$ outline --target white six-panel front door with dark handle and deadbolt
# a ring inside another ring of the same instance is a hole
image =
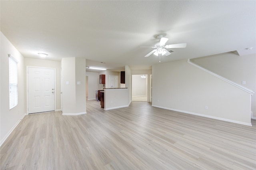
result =
[[[54,111],[54,69],[28,67],[28,113]]]

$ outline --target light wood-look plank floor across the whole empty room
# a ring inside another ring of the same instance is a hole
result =
[[[252,127],[151,107],[27,115],[1,146],[1,170],[256,169]]]

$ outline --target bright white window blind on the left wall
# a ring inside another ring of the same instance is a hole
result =
[[[9,54],[9,101],[10,110],[18,105],[18,62]]]

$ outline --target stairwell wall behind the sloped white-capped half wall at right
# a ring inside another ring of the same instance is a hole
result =
[[[256,92],[256,54],[239,56],[229,52],[191,61]],[[251,105],[252,116],[256,119],[256,94],[252,95]]]

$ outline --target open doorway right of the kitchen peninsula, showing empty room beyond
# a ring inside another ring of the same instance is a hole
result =
[[[132,101],[148,101],[148,75],[132,75]]]

